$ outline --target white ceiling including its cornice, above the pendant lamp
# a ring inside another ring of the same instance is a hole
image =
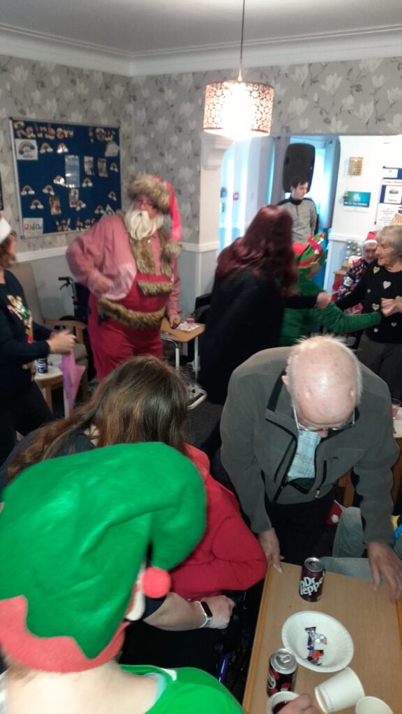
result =
[[[0,52],[155,74],[236,65],[242,0],[1,0]],[[245,65],[402,54],[401,0],[246,0]]]

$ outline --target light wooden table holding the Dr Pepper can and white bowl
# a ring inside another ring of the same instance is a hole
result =
[[[268,570],[243,700],[246,713],[266,713],[268,662],[283,646],[280,633],[285,620],[300,610],[318,610],[333,615],[350,633],[355,652],[349,666],[361,679],[366,695],[383,699],[393,714],[401,714],[401,600],[391,603],[385,585],[374,593],[368,580],[327,573],[320,602],[307,603],[298,594],[299,578],[298,565],[284,563],[282,574]],[[314,700],[315,686],[330,676],[299,665],[295,691],[308,693]],[[354,708],[343,714],[354,714]]]

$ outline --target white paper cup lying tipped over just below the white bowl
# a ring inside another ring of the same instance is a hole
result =
[[[364,697],[364,690],[358,675],[346,667],[315,687],[315,699],[324,714],[332,714],[341,709],[353,707]],[[363,711],[363,710],[362,710]]]

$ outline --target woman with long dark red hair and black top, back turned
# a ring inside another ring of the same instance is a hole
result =
[[[285,307],[325,306],[327,293],[292,296],[297,279],[292,218],[283,208],[264,206],[217,261],[201,345],[200,382],[210,401],[223,404],[232,371],[278,346]]]

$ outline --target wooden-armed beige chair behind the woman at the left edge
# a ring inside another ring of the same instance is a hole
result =
[[[54,318],[47,318],[42,315],[41,305],[39,302],[38,291],[35,283],[34,270],[31,263],[14,263],[10,268],[11,273],[14,273],[16,278],[21,283],[24,288],[24,293],[26,297],[26,302],[28,303],[29,310],[32,313],[34,321],[39,323],[39,325],[46,325],[50,328],[67,328],[72,330],[77,338],[77,343],[74,345],[74,357],[77,364],[84,367],[88,367],[88,355],[87,348],[84,344],[84,330],[87,326],[77,320],[57,320]],[[62,376],[59,378],[54,378],[50,383],[50,387],[57,389],[63,384]],[[81,381],[83,396],[87,395],[88,392],[88,376],[87,369],[84,371]],[[52,403],[52,399],[50,399]]]

